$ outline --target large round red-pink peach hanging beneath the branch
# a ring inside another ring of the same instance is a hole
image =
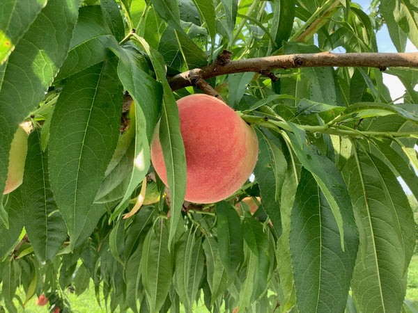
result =
[[[177,105],[186,153],[185,200],[213,203],[229,197],[254,170],[256,132],[231,107],[210,95],[188,95]],[[151,143],[151,161],[167,185],[158,126]]]

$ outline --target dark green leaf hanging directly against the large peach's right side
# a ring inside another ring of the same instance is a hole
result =
[[[258,154],[256,168],[254,168],[254,175],[260,188],[261,204],[272,221],[274,230],[280,235],[281,217],[278,199],[287,163],[279,147],[271,143],[261,131],[256,131],[256,133],[260,153]]]

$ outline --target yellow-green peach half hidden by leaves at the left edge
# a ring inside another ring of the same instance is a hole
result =
[[[4,188],[3,194],[6,195],[6,193],[14,191],[22,184],[24,161],[27,151],[28,134],[22,127],[19,127],[10,147],[6,187]]]

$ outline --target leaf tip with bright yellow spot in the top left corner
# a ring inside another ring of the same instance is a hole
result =
[[[0,64],[6,61],[46,3],[46,0],[5,0],[1,3]]]

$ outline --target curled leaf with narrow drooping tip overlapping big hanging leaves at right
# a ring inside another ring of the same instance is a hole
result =
[[[302,166],[314,175],[320,190],[325,195],[338,225],[341,248],[345,250],[343,224],[351,223],[352,227],[355,227],[354,220],[343,220],[343,216],[350,216],[350,212],[353,211],[346,183],[335,163],[318,153],[313,145],[307,145],[304,131],[292,124],[289,125],[295,130],[295,134],[288,133],[293,150]]]

